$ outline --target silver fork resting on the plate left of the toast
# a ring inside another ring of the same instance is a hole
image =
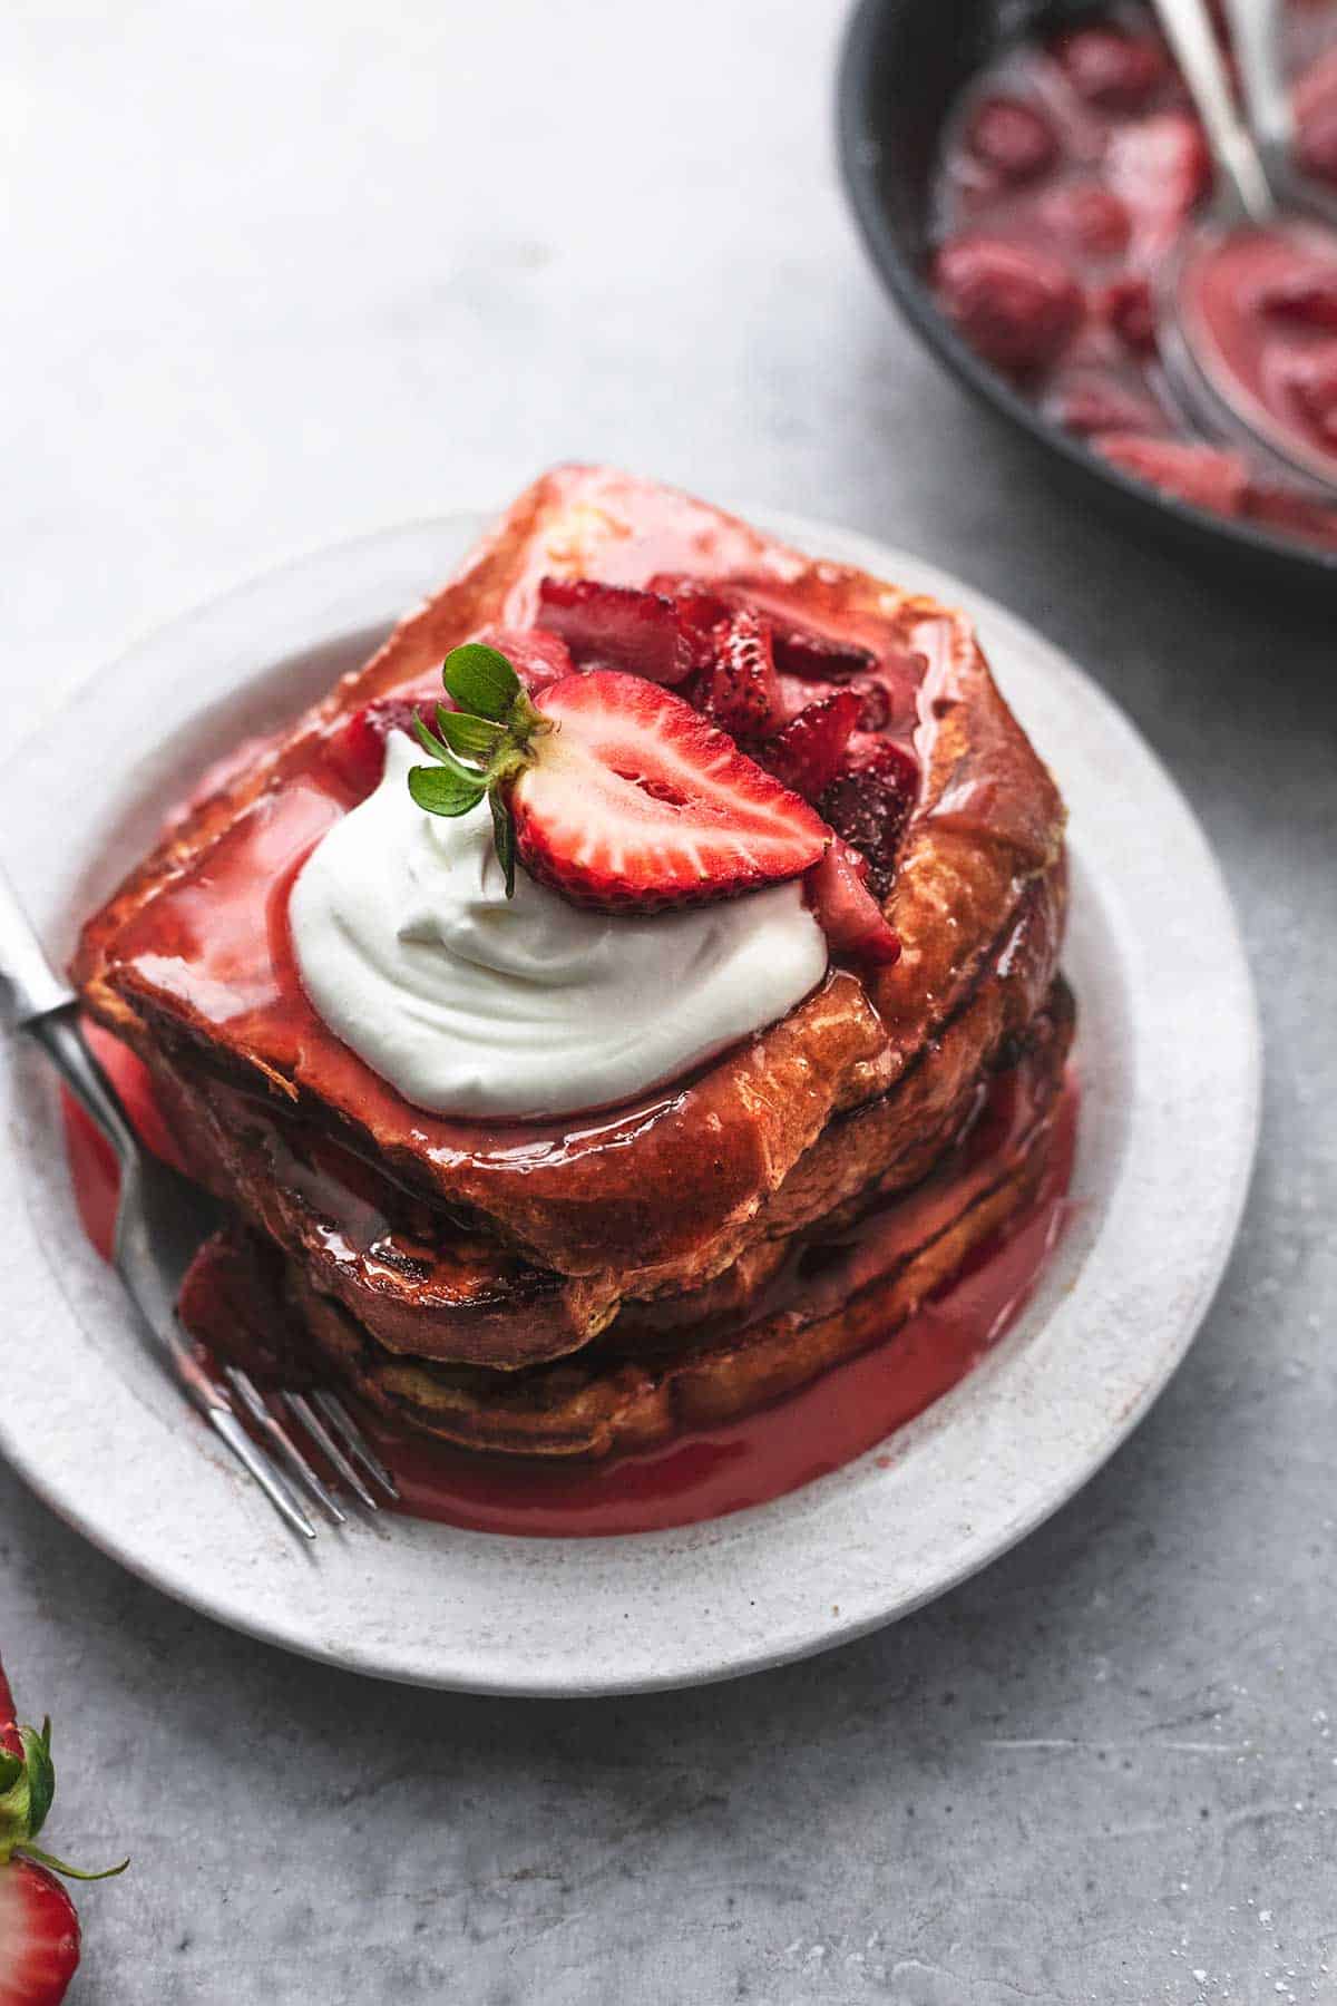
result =
[[[10,1029],[26,1031],[42,1047],[116,1151],[120,1200],[112,1262],[160,1364],[295,1533],[305,1539],[315,1539],[317,1533],[297,1494],[299,1488],[335,1525],[345,1525],[335,1492],[311,1466],[297,1436],[251,1376],[239,1366],[225,1366],[225,1388],[194,1356],[176,1316],[176,1298],[186,1268],[227,1214],[198,1184],[190,1184],[140,1147],[120,1095],[78,1025],[78,999],[52,971],[2,871],[0,1015]],[[369,1511],[381,1509],[377,1490],[387,1498],[399,1496],[395,1478],[337,1394],[281,1388],[279,1398]],[[243,1412],[267,1446],[247,1432],[241,1422]]]

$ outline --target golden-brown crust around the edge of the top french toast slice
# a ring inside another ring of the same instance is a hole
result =
[[[331,718],[417,680],[489,622],[527,622],[545,572],[643,582],[659,570],[736,582],[808,626],[928,654],[924,788],[888,901],[904,945],[896,967],[868,981],[832,971],[788,1019],[702,1079],[597,1119],[593,1143],[537,1127],[497,1137],[425,1117],[355,1061],[315,1091],[301,1039],[263,1043],[245,1017],[241,1029],[206,1021],[188,983],[182,991],[150,957],[136,961],[136,925],[142,939],[154,901],[188,883],[202,859],[212,867],[249,812],[269,812]],[[996,973],[1018,923],[1030,929],[1032,971],[1008,987]],[[94,1013],[140,1051],[170,1051],[176,1063],[227,1073],[333,1123],[393,1176],[463,1208],[539,1266],[591,1282],[631,1274],[647,1292],[692,1286],[736,1260],[760,1230],[754,1222],[784,1208],[796,1172],[794,1192],[804,1188],[834,1117],[880,1107],[876,1119],[902,1119],[908,1135],[924,1107],[950,1105],[1044,995],[1060,931],[1062,808],[962,616],[808,560],[706,504],[607,469],[561,467],[519,497],[361,672],[132,873],[88,923],[74,973]],[[994,989],[1000,1001],[980,1005]],[[958,1025],[968,1031],[950,1035]]]

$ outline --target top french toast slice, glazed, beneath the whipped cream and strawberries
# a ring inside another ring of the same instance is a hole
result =
[[[313,1013],[275,921],[349,806],[331,742],[373,698],[425,688],[459,642],[529,626],[545,576],[665,572],[868,650],[904,694],[922,778],[886,899],[900,961],[832,965],[782,1023],[631,1107],[565,1123],[427,1115]],[[914,1165],[1040,1007],[1062,913],[1058,794],[960,614],[670,489],[559,467],[363,670],[170,828],[86,925],[74,977],[104,1025],[196,1095],[251,1095],[529,1268],[583,1280],[573,1322],[557,1292],[565,1344],[609,1302],[706,1286],[756,1240]]]

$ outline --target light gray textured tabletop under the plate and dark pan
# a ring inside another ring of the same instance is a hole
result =
[[[80,2006],[1337,2000],[1331,606],[1084,514],[910,345],[836,187],[838,28],[8,0],[6,730],[249,570],[555,457],[904,542],[1084,662],[1221,851],[1271,1063],[1239,1252],[1048,1529],[734,1687],[361,1683],[164,1603],[0,1472],[52,1844],[134,1852],[82,1898]]]

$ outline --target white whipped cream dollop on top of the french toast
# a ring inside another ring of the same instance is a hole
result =
[[[425,814],[391,732],[385,776],[303,865],[291,929],[325,1023],[415,1107],[533,1119],[609,1107],[784,1017],[826,971],[802,889],[589,913],[515,873],[483,800]]]

